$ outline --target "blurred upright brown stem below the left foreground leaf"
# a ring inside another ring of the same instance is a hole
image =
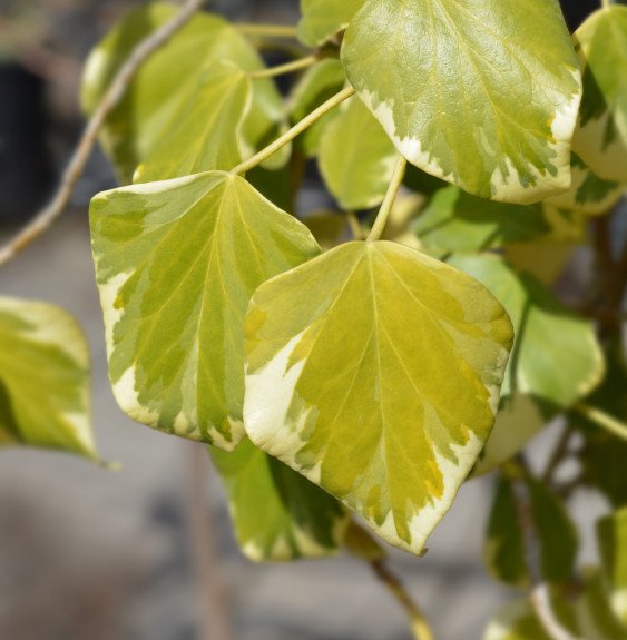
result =
[[[232,640],[225,589],[218,579],[216,536],[212,526],[210,503],[205,491],[207,482],[207,452],[198,443],[189,446],[188,528],[194,569],[197,575],[200,640]]]

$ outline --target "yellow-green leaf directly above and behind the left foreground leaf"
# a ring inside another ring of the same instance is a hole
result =
[[[215,63],[200,78],[180,120],[139,165],[134,181],[151,183],[233,169],[242,161],[239,129],[249,100],[247,75],[232,62]]]

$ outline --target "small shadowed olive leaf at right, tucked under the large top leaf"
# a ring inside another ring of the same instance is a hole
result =
[[[547,205],[590,215],[605,214],[624,196],[626,185],[599,178],[577,154],[572,154],[570,167],[572,173],[570,189],[547,198]]]

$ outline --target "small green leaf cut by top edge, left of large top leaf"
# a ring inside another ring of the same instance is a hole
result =
[[[345,29],[364,0],[301,0],[303,18],[298,38],[310,47],[319,47]]]

